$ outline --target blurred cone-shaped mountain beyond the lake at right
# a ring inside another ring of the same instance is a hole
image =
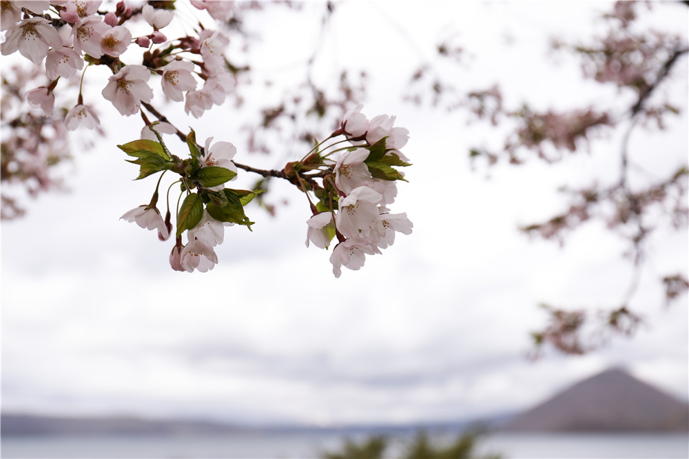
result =
[[[508,431],[688,431],[689,405],[608,369],[504,425]]]

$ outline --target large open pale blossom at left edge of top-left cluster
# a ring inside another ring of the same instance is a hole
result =
[[[19,50],[19,53],[33,63],[40,63],[50,45],[62,43],[50,21],[42,17],[32,17],[19,21],[16,28],[9,30],[5,43],[2,44],[2,54],[8,55]]]

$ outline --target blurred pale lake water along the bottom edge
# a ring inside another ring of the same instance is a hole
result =
[[[342,433],[237,433],[176,437],[4,437],[1,457],[10,458],[319,458],[336,451]],[[354,440],[364,436],[350,437]],[[453,436],[436,436],[437,442]],[[391,438],[389,457],[410,437]],[[494,434],[481,438],[478,453],[503,458],[689,458],[686,434]]]

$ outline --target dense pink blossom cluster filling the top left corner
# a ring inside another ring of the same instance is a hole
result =
[[[215,18],[227,19],[232,8],[231,2],[191,3]],[[146,4],[133,10],[120,1],[110,12],[99,11],[100,7],[101,0],[2,2],[2,54],[19,52],[37,65],[45,61],[49,83],[25,94],[32,107],[40,109],[44,116],[50,115],[59,79],[69,79],[82,69],[85,72],[85,63],[86,68],[110,67],[113,74],[101,95],[123,116],[138,113],[142,104],[152,101],[152,74],[161,77],[167,99],[184,102],[185,112],[196,118],[225,101],[234,87],[234,78],[225,69],[223,51],[229,39],[224,34],[202,26],[198,35],[169,40],[162,30],[174,20],[175,10],[165,9],[174,8],[172,2],[165,2],[165,8]],[[143,19],[143,29],[136,19]],[[132,49],[142,50],[141,63],[127,65],[121,57]],[[195,74],[203,80],[202,88],[198,88]],[[66,127],[93,129],[99,122],[93,105],[83,103],[80,88],[76,104],[65,116]]]

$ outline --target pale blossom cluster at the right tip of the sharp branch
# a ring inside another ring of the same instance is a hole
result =
[[[413,227],[407,214],[392,214],[388,208],[397,196],[397,181],[404,180],[393,166],[410,165],[400,152],[409,131],[395,127],[394,116],[369,120],[361,108],[358,105],[347,112],[340,130],[333,133],[345,136],[351,145],[333,150],[342,151],[336,161],[329,158],[333,152],[321,151],[298,164],[322,163],[331,171],[323,177],[323,189],[315,190],[320,200],[312,205],[313,216],[307,221],[306,245],[327,249],[337,236],[338,244],[330,256],[336,277],[342,274],[342,266],[360,269],[366,255],[380,254],[380,249],[393,244],[395,233],[411,234]]]

